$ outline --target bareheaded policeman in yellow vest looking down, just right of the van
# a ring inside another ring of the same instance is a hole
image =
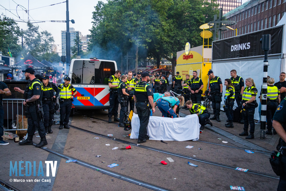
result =
[[[109,109],[108,109],[108,123],[111,123],[111,117],[114,115],[114,121],[118,119],[118,93],[117,88],[119,85],[119,78],[121,76],[120,70],[116,70],[115,74],[109,77]]]

